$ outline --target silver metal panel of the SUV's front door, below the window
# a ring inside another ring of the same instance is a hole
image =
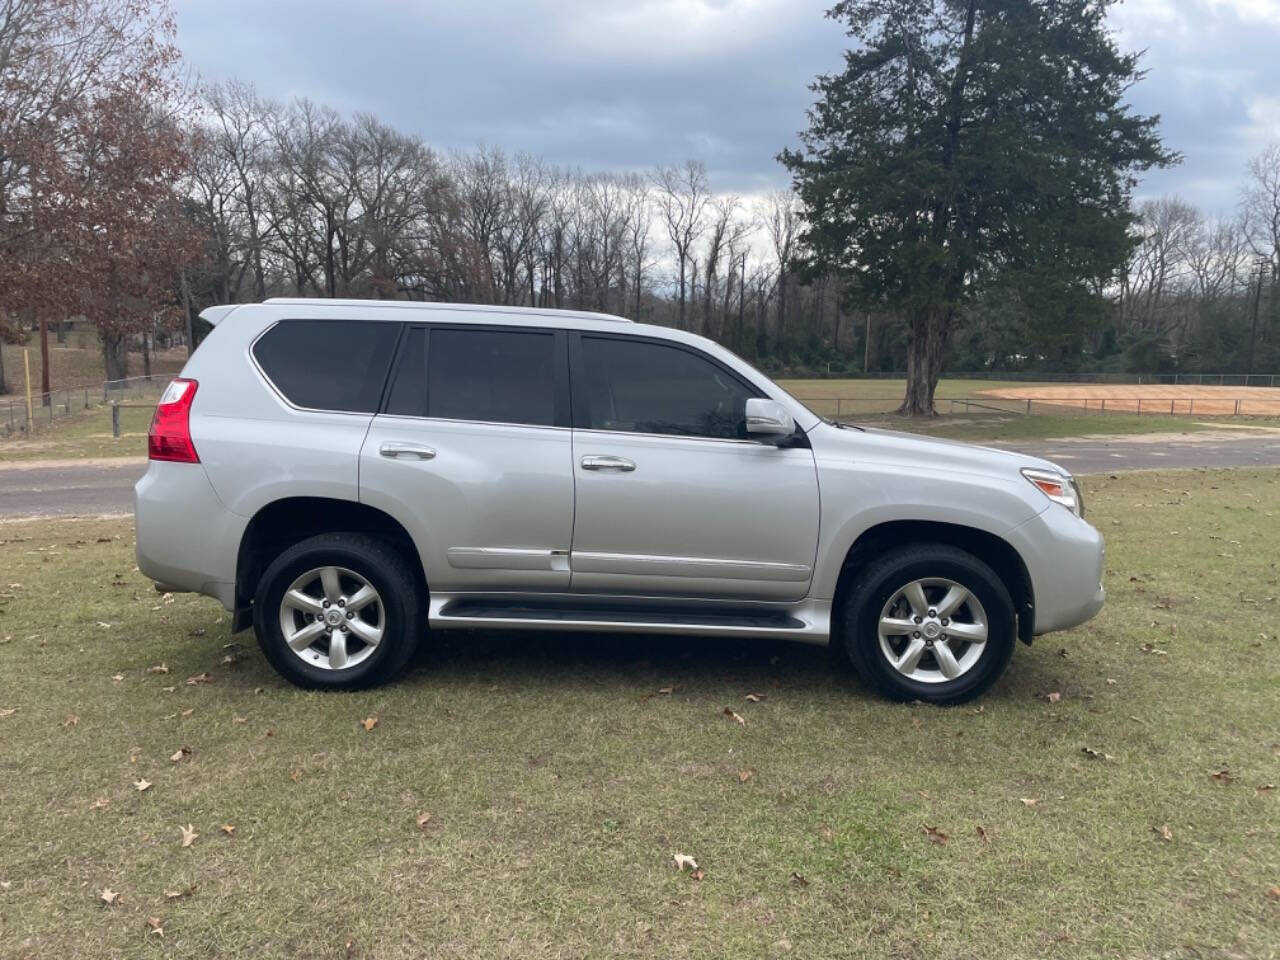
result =
[[[582,468],[622,457],[626,472]],[[696,436],[573,431],[572,589],[799,600],[818,543],[813,452]]]

